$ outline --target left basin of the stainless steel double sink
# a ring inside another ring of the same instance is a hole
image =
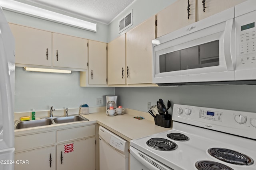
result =
[[[52,119],[39,119],[33,121],[17,121],[15,129],[23,129],[28,127],[37,127],[37,126],[45,126],[52,125]]]

